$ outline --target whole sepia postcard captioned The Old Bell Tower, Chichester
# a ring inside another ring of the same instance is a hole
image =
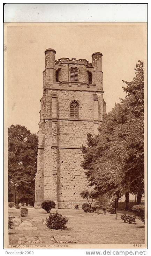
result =
[[[4,69],[4,248],[146,249],[147,23],[5,23]]]

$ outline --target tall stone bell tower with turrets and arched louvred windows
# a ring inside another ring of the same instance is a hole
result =
[[[97,134],[105,113],[102,54],[85,59],[55,60],[45,50],[43,97],[38,132],[35,207],[52,200],[56,208],[81,207],[88,181],[80,163],[87,133]]]

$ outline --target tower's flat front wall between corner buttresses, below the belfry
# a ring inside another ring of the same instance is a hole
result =
[[[79,207],[82,200],[80,193],[87,188],[88,180],[80,164],[83,154],[80,149],[86,145],[87,133],[93,134],[93,94],[94,92],[59,91],[57,92],[57,196],[59,208]],[[70,103],[79,103],[79,118],[70,118]],[[99,95],[99,119],[103,113],[103,98]],[[67,119],[67,120],[66,120]]]

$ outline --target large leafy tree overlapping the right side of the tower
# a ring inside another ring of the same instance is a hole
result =
[[[144,193],[142,61],[138,61],[135,70],[133,81],[123,81],[125,99],[104,115],[99,134],[87,134],[88,147],[82,146],[85,155],[81,163],[90,186],[95,185],[100,195],[109,198],[125,195],[127,210],[129,193],[137,194],[139,203]]]

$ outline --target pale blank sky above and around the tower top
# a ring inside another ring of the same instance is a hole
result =
[[[138,60],[146,60],[146,23],[18,23],[7,25],[8,126],[21,124],[38,132],[39,100],[47,48],[56,60],[86,59],[103,54],[103,89],[106,112],[124,97],[122,80],[135,76]]]

